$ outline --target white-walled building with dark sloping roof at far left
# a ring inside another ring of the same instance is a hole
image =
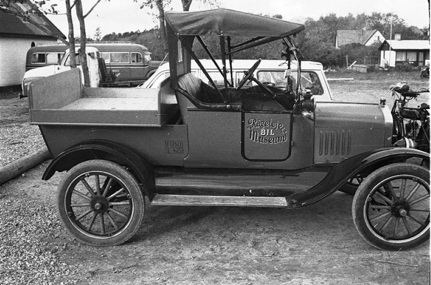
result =
[[[12,13],[5,12],[5,8],[0,7],[0,87],[21,83],[25,73],[25,55],[29,48],[55,44],[57,38],[54,35],[65,39],[41,13],[28,13],[28,19],[18,16],[34,9],[29,0],[10,3],[7,9]]]

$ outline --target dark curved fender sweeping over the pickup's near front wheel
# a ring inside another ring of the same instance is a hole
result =
[[[356,174],[369,174],[384,165],[408,158],[423,159],[429,165],[429,154],[412,148],[383,148],[364,152],[335,164],[326,176],[312,188],[286,197],[288,208],[297,208],[317,202],[336,191]]]

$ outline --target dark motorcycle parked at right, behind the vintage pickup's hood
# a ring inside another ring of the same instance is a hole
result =
[[[416,148],[429,153],[429,105],[422,103],[415,108],[407,107],[410,100],[429,90],[412,91],[403,82],[391,85],[390,90],[394,97],[391,109],[393,146]]]

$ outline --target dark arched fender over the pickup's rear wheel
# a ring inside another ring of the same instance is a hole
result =
[[[42,179],[48,180],[55,171],[67,171],[92,159],[109,160],[127,167],[138,182],[143,184],[145,195],[152,198],[155,189],[152,166],[126,147],[110,141],[86,141],[61,152],[48,165]]]

